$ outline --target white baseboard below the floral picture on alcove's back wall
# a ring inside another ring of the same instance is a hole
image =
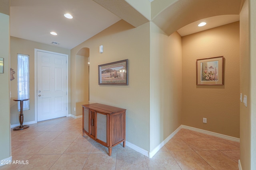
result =
[[[222,135],[222,134],[220,134],[220,133],[215,133],[215,132],[211,132],[211,131],[206,131],[206,130],[202,130],[202,129],[198,129],[198,128],[190,127],[190,126],[186,126],[186,125],[182,125],[182,128],[184,128],[184,129],[189,129],[189,130],[196,131],[196,132],[200,132],[200,133],[204,133],[204,134],[206,134],[206,135],[211,135],[211,136],[215,136],[215,137],[220,137],[220,138],[222,138],[222,139],[227,139],[227,140],[230,140],[230,141],[240,142],[240,139],[239,139],[239,138],[231,137],[231,136],[228,136],[228,135]]]

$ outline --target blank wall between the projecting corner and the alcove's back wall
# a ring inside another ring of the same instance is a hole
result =
[[[181,125],[182,43],[150,24],[150,152]]]

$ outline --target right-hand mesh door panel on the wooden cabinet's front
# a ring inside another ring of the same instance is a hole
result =
[[[107,143],[107,115],[97,113],[97,139]]]

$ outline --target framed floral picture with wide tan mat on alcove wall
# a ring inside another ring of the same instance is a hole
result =
[[[224,58],[196,60],[196,85],[224,85]]]

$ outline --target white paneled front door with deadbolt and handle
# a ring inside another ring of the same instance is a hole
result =
[[[67,115],[66,55],[36,51],[37,121]]]

